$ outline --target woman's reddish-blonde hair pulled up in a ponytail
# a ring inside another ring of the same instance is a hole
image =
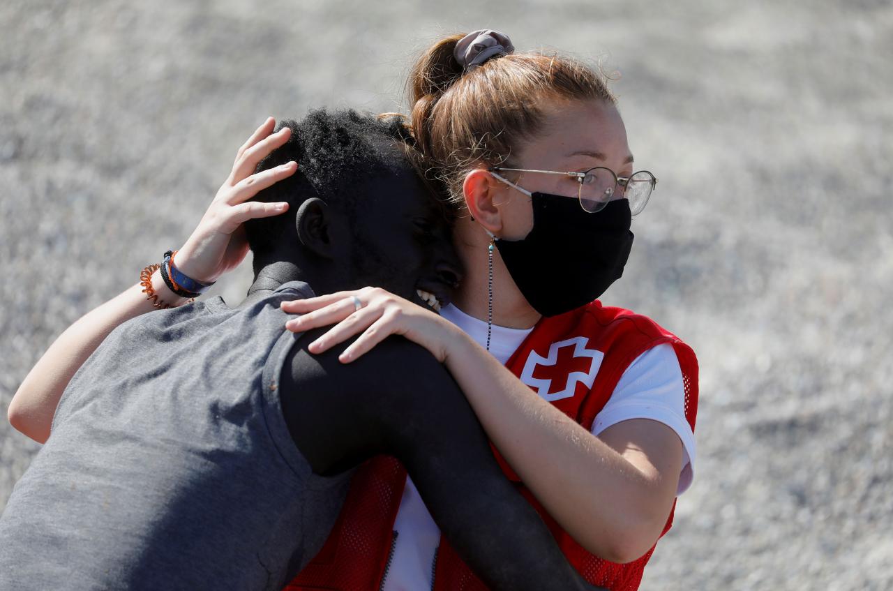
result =
[[[462,202],[468,171],[505,162],[520,142],[538,135],[549,102],[616,102],[601,73],[563,55],[507,54],[463,71],[453,55],[463,37],[438,40],[408,81],[413,134],[455,202]]]

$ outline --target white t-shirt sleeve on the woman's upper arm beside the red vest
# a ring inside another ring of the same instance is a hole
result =
[[[672,345],[656,345],[630,363],[596,415],[592,434],[630,419],[662,422],[679,436],[683,454],[676,495],[684,493],[694,478],[695,434],[685,418],[682,370]]]

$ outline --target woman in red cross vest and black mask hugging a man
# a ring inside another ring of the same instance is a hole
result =
[[[515,54],[507,37],[481,30],[438,41],[411,86],[414,134],[460,212],[455,245],[466,276],[455,305],[438,316],[369,288],[285,304],[306,312],[288,328],[340,322],[315,351],[362,332],[344,362],[392,333],[428,348],[463,387],[506,473],[523,483],[572,564],[594,584],[635,589],[690,482],[697,362],[653,321],[589,302],[622,273],[630,214],[656,181],[633,174],[613,96],[572,60]],[[243,151],[273,146],[276,137],[261,139],[270,129]],[[238,236],[229,237],[252,213],[218,231],[213,212],[229,219],[248,198],[234,186],[250,162],[237,160],[240,173],[234,168],[178,254],[187,275],[214,279],[244,254]],[[76,324],[59,338],[22,385],[44,393],[30,396],[43,403],[31,408],[52,417],[64,383],[104,334],[146,310],[138,295],[131,289],[105,304],[109,311],[93,319],[104,329],[69,335]],[[436,295],[421,296],[438,308]],[[66,350],[78,354],[59,370]],[[29,384],[40,366],[55,377]],[[372,462],[355,478],[329,542],[289,587],[480,588],[438,539],[405,473],[386,459]]]

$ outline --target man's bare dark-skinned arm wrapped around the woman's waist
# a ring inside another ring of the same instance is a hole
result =
[[[286,365],[291,375],[281,379],[288,429],[316,473],[393,455],[488,587],[597,588],[572,568],[537,512],[505,479],[462,391],[427,351],[389,337],[345,366],[338,362],[344,346],[306,352],[316,336],[298,341]]]

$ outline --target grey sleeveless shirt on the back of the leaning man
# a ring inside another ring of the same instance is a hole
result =
[[[280,301],[220,297],[114,329],[65,390],[0,517],[0,589],[280,589],[349,472],[313,475],[283,419]],[[290,567],[290,569],[289,569]]]

